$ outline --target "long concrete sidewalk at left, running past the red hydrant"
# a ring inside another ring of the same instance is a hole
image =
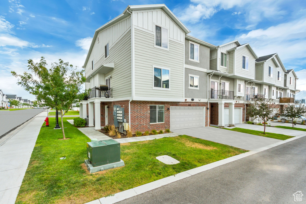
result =
[[[45,115],[39,113],[0,139],[1,203],[15,203]]]

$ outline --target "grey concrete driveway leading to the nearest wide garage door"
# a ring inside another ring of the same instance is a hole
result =
[[[189,135],[216,143],[239,147],[244,150],[256,150],[258,148],[282,141],[279,139],[250,135],[214,127],[185,128],[171,131],[179,133],[180,135]]]

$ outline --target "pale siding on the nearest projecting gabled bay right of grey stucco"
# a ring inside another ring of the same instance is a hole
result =
[[[255,79],[255,57],[246,46],[235,50],[235,75]],[[249,58],[248,70],[242,69],[242,56]]]

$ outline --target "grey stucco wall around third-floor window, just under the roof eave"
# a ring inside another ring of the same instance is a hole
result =
[[[192,43],[191,40],[190,42]],[[199,47],[199,51],[200,51],[199,61],[200,62],[189,60],[189,55],[190,55],[189,50],[190,50],[189,40],[185,39],[185,65],[191,65],[191,66],[200,67],[203,69],[209,69],[209,52],[210,52],[209,47],[200,44],[200,47]]]

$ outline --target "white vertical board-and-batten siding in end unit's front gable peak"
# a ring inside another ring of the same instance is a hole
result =
[[[168,28],[169,38],[184,42],[185,33],[162,9],[133,11],[133,25],[155,32],[154,23]]]

